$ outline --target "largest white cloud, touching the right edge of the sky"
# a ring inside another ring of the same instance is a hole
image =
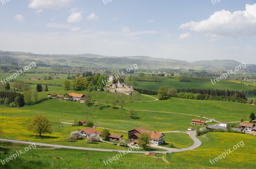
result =
[[[209,19],[188,22],[180,29],[190,29],[210,37],[232,37],[256,35],[256,4],[246,4],[245,11],[215,12]]]

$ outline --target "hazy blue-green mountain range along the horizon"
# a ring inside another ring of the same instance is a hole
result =
[[[240,63],[235,60],[204,60],[188,62],[175,59],[167,58],[152,58],[149,56],[123,56],[113,57],[95,54],[54,54],[54,55],[42,55],[34,54],[31,52],[11,52],[0,50],[0,58],[8,60],[12,59],[14,62],[22,63],[25,60],[40,60],[40,63],[47,64],[59,64],[59,65],[70,65],[70,66],[84,66],[89,68],[115,68],[121,69],[129,67],[133,64],[137,64],[139,69],[161,69],[161,70],[183,70],[183,69],[195,69],[195,70],[212,70],[221,69],[226,70],[228,68],[234,69]],[[9,59],[7,59],[9,58]],[[58,63],[56,63],[58,62]],[[247,65],[247,68],[256,70],[256,65]]]

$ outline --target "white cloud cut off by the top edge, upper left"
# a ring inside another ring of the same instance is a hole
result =
[[[68,6],[73,0],[30,0],[29,8],[33,9],[60,9]]]

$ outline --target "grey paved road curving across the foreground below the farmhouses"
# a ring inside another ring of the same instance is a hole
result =
[[[177,131],[180,133],[179,131]],[[92,151],[108,151],[108,152],[125,152],[125,153],[147,153],[147,152],[155,152],[155,153],[171,153],[171,152],[181,152],[181,151],[188,151],[193,150],[201,145],[200,140],[196,138],[196,131],[189,132],[189,136],[194,140],[194,144],[191,147],[188,147],[186,149],[175,149],[175,150],[169,150],[169,151],[124,151],[124,150],[108,150],[108,149],[94,149],[94,148],[85,148],[85,147],[73,147],[73,146],[64,146],[64,145],[55,145],[55,144],[45,144],[45,143],[38,143],[38,142],[24,142],[24,141],[18,141],[18,140],[7,140],[7,139],[0,139],[0,141],[3,142],[14,142],[14,143],[21,143],[21,144],[33,144],[38,146],[47,146],[47,147],[56,147],[56,148],[66,148],[66,149],[77,149],[77,150],[92,150]]]

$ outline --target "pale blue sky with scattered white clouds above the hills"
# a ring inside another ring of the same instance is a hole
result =
[[[256,0],[0,0],[0,17],[3,51],[256,64]]]

